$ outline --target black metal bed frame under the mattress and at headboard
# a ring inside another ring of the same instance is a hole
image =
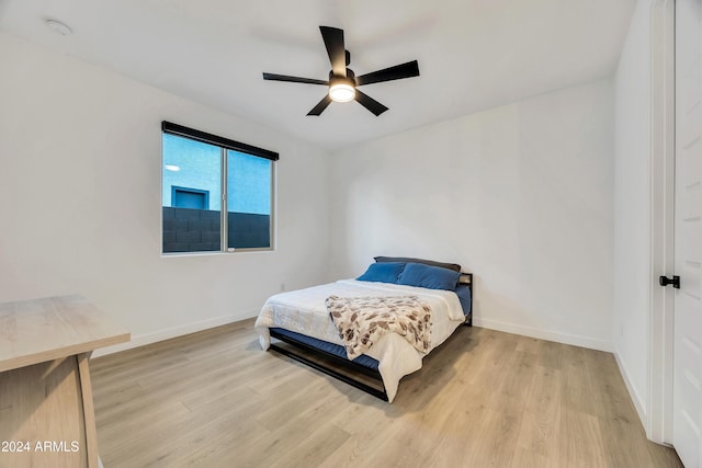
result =
[[[467,279],[463,281],[463,284],[466,284],[471,290],[471,311],[465,317],[465,321],[463,322],[466,327],[473,327],[473,273],[462,273],[462,276]],[[385,392],[385,387],[383,386],[383,378],[381,377],[381,373],[376,369],[366,367],[362,364],[358,364],[353,361],[349,361],[343,357],[339,357],[336,354],[330,352],[319,350],[310,344],[304,343],[302,341],[295,340],[294,338],[287,334],[281,334],[275,329],[271,329],[271,338],[280,340],[284,343],[290,344],[291,346],[281,346],[274,342],[271,342],[271,350],[276,351],[278,353],[284,354],[299,363],[308,365],[321,373],[325,373],[331,377],[335,377],[346,384],[349,384],[360,390],[365,391],[381,400],[387,401],[387,393]],[[298,352],[299,351],[299,352]],[[310,358],[305,354],[312,354],[319,358]],[[331,365],[325,364],[325,362],[330,363]],[[349,374],[339,372],[338,368],[342,368]],[[350,375],[351,374],[351,375]],[[369,385],[361,379],[353,378],[352,374],[360,374],[366,377],[371,377],[373,381],[377,383],[377,386]],[[380,388],[380,389],[378,389]],[[382,389],[382,390],[381,390]]]

